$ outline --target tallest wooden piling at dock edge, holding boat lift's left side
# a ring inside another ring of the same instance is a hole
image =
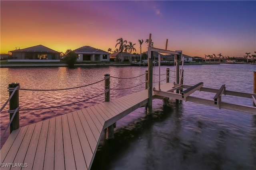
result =
[[[151,51],[151,33],[148,39],[148,108],[147,114],[152,113],[152,98],[153,98],[153,57],[154,53]]]

